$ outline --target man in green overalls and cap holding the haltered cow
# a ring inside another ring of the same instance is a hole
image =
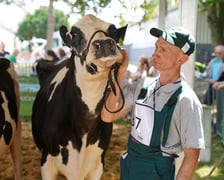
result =
[[[151,65],[160,71],[159,77],[141,79],[130,88],[121,107],[120,95],[110,93],[101,112],[105,122],[112,122],[132,112],[132,127],[128,151],[121,158],[121,180],[191,180],[204,148],[202,106],[194,91],[181,77],[181,66],[194,52],[195,40],[184,28],[167,31],[150,30],[158,37]],[[122,82],[127,66],[118,71]],[[119,85],[115,82],[117,94]],[[175,175],[174,159],[184,152],[184,159]]]

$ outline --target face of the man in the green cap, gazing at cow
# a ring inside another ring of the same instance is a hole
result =
[[[183,56],[180,48],[169,44],[162,38],[157,40],[155,46],[156,48],[151,60],[152,66],[160,72],[180,68],[178,61]]]

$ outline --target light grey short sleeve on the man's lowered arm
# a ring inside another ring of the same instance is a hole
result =
[[[202,105],[193,90],[185,90],[179,97],[179,132],[183,148],[205,148],[202,127]]]

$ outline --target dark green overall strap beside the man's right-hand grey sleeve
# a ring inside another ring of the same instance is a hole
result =
[[[165,104],[164,108],[166,108],[165,115],[164,115],[164,127],[163,127],[163,141],[162,145],[165,146],[167,138],[168,138],[168,133],[169,133],[169,128],[170,128],[170,122],[172,119],[172,114],[174,111],[174,108],[177,103],[177,97],[179,94],[182,92],[182,86],[180,86],[170,97],[170,99],[167,101]]]

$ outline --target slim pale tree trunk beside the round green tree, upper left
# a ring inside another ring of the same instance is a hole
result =
[[[49,0],[46,49],[52,49],[53,46],[54,23],[54,0]]]

